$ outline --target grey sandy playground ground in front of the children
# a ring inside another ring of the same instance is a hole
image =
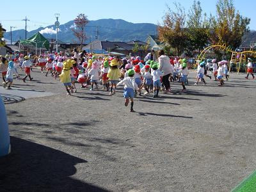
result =
[[[172,83],[170,94],[136,98],[136,113],[122,87],[109,96],[77,84],[70,97],[38,69],[32,76],[14,80],[6,104],[1,191],[230,191],[255,170],[256,80],[244,74],[194,86],[191,71],[188,93]]]

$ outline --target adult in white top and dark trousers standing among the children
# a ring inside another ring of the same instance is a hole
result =
[[[171,92],[169,77],[170,77],[170,74],[172,73],[172,68],[171,68],[170,58],[164,54],[163,50],[160,50],[158,52],[158,56],[159,56],[158,58],[159,70],[163,72],[163,84],[165,87],[164,93],[168,93],[168,92]]]

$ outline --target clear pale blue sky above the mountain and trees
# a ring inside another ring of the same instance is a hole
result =
[[[10,26],[15,29],[24,29],[25,22],[22,21],[26,16],[28,21],[28,31],[54,24],[54,13],[60,13],[60,24],[64,24],[76,18],[79,13],[88,15],[89,20],[97,19],[124,19],[129,22],[140,23],[150,22],[157,24],[161,22],[166,4],[173,6],[173,2],[180,3],[188,11],[193,0],[98,0],[98,1],[54,1],[44,0],[38,4],[35,1],[15,1],[13,5],[10,1],[2,1],[0,12],[0,22],[3,27],[10,31]],[[209,15],[216,13],[217,0],[201,1],[204,12]],[[234,0],[236,9],[246,17],[251,18],[250,29],[256,30],[255,7],[256,1],[253,0]],[[10,8],[12,6],[12,8]],[[12,11],[10,11],[12,10]],[[14,30],[15,30],[14,29]]]

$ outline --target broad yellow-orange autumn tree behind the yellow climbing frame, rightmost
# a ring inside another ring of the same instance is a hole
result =
[[[250,19],[236,11],[233,0],[219,0],[216,8],[216,17],[211,16],[211,41],[236,49],[244,33],[249,31]]]

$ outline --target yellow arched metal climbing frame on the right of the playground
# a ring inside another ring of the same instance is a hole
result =
[[[226,44],[222,44],[222,45],[218,44],[218,45],[211,45],[209,47],[206,47],[204,51],[200,53],[197,60],[200,60],[200,61],[205,60],[205,54],[211,51],[212,49],[231,52],[232,53],[231,59],[228,62],[228,65],[229,65],[228,72],[230,72],[232,65],[236,65],[237,74],[239,74],[241,66],[243,66],[244,63],[246,63],[246,56],[256,57],[256,51],[253,51],[252,48],[249,51],[237,52],[232,50],[231,47],[227,46]],[[237,67],[237,64],[238,64],[238,67]],[[245,67],[245,70],[246,70],[246,67]]]

